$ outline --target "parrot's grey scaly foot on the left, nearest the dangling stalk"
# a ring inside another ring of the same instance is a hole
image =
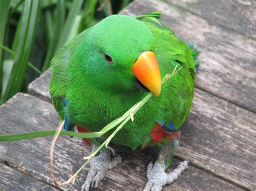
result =
[[[110,151],[100,151],[99,155],[93,157],[90,161],[90,169],[82,186],[82,191],[96,188],[104,178],[105,173],[114,166],[117,166],[120,162],[122,162],[122,158],[119,155],[111,159]]]

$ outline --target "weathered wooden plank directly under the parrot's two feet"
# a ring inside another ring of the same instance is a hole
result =
[[[58,116],[53,105],[37,97],[17,94],[0,108],[0,131],[6,135],[28,131],[55,129]],[[49,150],[51,138],[1,142],[4,153],[0,161],[8,161],[11,167],[17,168],[23,161],[23,171],[37,179],[52,184],[49,173]],[[56,145],[55,164],[59,180],[67,179],[75,169],[83,164],[82,157],[89,152],[80,139],[60,137]],[[15,156],[15,157],[14,157]],[[100,189],[140,190],[146,183],[146,166],[151,157],[145,152],[123,153],[123,162],[107,172],[100,183]],[[180,160],[174,159],[175,167]],[[169,172],[171,169],[169,169]],[[66,188],[79,189],[86,177],[87,168],[77,177],[75,185]],[[59,177],[60,176],[60,177]],[[204,183],[202,183],[204,182]],[[205,189],[240,189],[221,180],[203,169],[190,166],[180,178],[166,190],[205,190]]]

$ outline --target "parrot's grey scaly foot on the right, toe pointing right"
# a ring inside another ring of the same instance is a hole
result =
[[[154,164],[150,162],[147,166],[147,183],[144,191],[158,191],[166,184],[172,183],[178,176],[188,167],[188,161],[180,162],[179,166],[171,173],[165,173],[165,164],[156,161]]]

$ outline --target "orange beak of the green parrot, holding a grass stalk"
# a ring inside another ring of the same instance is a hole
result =
[[[161,91],[161,75],[156,55],[152,51],[143,52],[133,64],[133,74],[155,96]]]

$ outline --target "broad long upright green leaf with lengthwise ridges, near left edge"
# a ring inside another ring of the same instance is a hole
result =
[[[31,47],[35,37],[38,12],[38,0],[25,1],[14,66],[12,67],[11,76],[6,87],[2,103],[21,90],[26,67],[28,66]]]

